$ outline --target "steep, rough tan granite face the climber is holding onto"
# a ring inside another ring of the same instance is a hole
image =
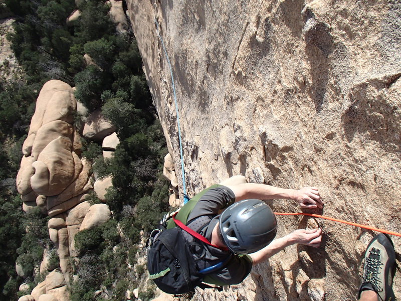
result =
[[[316,186],[323,215],[400,232],[401,6],[395,1],[128,0],[182,200],[232,175]],[[289,201],[273,209],[299,211]],[[278,217],[278,236],[307,218]],[[355,299],[374,235],[319,220],[317,249],[291,246],[245,282],[196,300]],[[392,237],[399,258],[401,241]],[[395,295],[401,295],[399,272]]]

